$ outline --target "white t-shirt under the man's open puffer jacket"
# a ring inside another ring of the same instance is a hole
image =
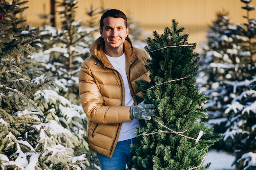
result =
[[[106,54],[105,54],[106,55]],[[125,91],[125,106],[134,106],[134,102],[132,99],[132,95],[130,93],[130,88],[128,84],[127,74],[126,74],[126,57],[125,53],[120,57],[108,57],[108,60],[112,64],[112,66],[121,74],[121,77],[124,82],[124,91]],[[130,122],[122,123],[122,127],[120,130],[120,135],[118,141],[124,141],[127,139],[132,139],[136,137],[134,130],[139,127],[139,121],[137,119],[133,119]]]

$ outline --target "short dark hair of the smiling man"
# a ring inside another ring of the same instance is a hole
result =
[[[118,9],[110,9],[110,10],[106,11],[105,13],[103,13],[103,15],[101,16],[101,22],[100,22],[101,29],[103,29],[103,26],[104,26],[103,20],[104,20],[104,18],[107,18],[107,17],[123,18],[126,28],[128,27],[126,15]]]

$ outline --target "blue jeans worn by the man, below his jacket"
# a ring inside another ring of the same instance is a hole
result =
[[[111,158],[97,153],[101,170],[124,170],[130,160],[130,144],[135,144],[135,138],[117,142],[117,146]]]

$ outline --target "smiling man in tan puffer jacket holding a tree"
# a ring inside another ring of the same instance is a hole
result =
[[[148,81],[145,51],[133,47],[126,15],[116,9],[101,16],[100,34],[91,55],[81,65],[79,96],[88,121],[89,144],[97,151],[102,170],[124,170],[138,119],[153,116],[153,104],[138,104],[135,84]],[[138,104],[138,105],[137,105]]]

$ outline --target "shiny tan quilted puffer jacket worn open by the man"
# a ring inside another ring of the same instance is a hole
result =
[[[112,157],[122,122],[129,122],[130,106],[124,106],[124,83],[121,75],[103,52],[104,40],[98,38],[91,46],[91,55],[81,65],[79,96],[88,121],[90,147],[107,157]],[[129,37],[124,42],[126,71],[132,98],[142,97],[135,85],[138,79],[148,81],[145,68],[149,59],[143,50],[134,48]]]

